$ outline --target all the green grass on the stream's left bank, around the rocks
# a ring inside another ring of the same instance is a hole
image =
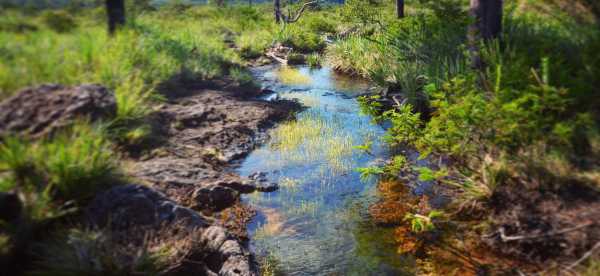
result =
[[[117,102],[115,118],[99,125],[77,121],[37,141],[2,138],[0,190],[18,193],[25,209],[20,222],[1,222],[1,250],[36,254],[35,274],[156,274],[187,258],[178,254],[189,243],[159,234],[137,244],[120,240],[123,233],[81,227],[43,238],[32,234],[49,232],[40,227],[72,217],[94,194],[123,180],[117,150],[151,138],[149,115],[178,82],[226,77],[252,84],[247,60],[275,42],[299,52],[322,50],[321,35],[333,32],[335,22],[311,12],[306,22],[276,25],[268,5],[169,4],[130,11],[127,25],[112,37],[103,7],[0,11],[0,100],[43,83],[99,83],[114,91]],[[299,80],[288,73],[291,81]],[[30,230],[19,234],[9,228]]]

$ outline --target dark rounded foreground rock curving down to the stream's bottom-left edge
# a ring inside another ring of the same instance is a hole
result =
[[[169,274],[178,275],[257,275],[257,266],[250,252],[227,229],[211,225],[211,218],[182,207],[164,194],[141,185],[124,185],[99,194],[86,210],[88,222],[100,229],[113,232],[137,233],[144,239],[146,231],[160,232],[173,225],[182,227],[187,236],[180,239],[199,241],[201,247],[189,248],[192,252]],[[187,231],[186,231],[187,229]],[[165,230],[167,231],[167,230]],[[183,250],[183,249],[181,249]],[[132,251],[132,254],[136,254]]]

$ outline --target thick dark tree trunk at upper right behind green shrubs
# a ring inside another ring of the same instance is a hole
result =
[[[503,0],[471,0],[470,15],[475,19],[469,26],[469,51],[471,66],[483,69],[478,43],[498,38],[502,32]]]

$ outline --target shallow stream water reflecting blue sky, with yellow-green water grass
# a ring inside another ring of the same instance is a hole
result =
[[[270,132],[238,172],[264,172],[280,189],[245,196],[258,210],[249,226],[251,247],[286,275],[411,275],[413,260],[396,254],[390,229],[367,214],[375,181],[361,181],[359,167],[381,164],[384,130],[359,114],[359,80],[330,69],[258,69],[269,96],[296,99],[307,108]],[[355,146],[371,143],[370,153]]]

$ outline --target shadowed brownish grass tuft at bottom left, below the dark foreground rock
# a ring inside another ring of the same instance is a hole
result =
[[[168,273],[201,251],[194,239],[200,230],[181,231],[178,225],[161,230],[131,230],[73,227],[36,245],[37,267],[31,275],[113,275]],[[136,232],[137,231],[137,232]]]

